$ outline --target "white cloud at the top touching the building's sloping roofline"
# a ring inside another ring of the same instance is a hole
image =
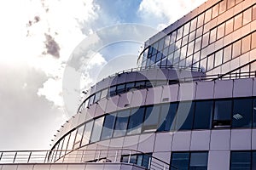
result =
[[[143,0],[138,14],[146,23],[157,23],[158,30],[169,26],[184,14],[204,3],[206,0]],[[152,19],[156,20],[152,20]],[[160,23],[162,20],[164,23]],[[167,23],[166,23],[167,22]]]

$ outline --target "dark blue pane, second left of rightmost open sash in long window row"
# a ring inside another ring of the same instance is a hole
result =
[[[192,129],[195,102],[180,102],[177,107],[176,130]]]

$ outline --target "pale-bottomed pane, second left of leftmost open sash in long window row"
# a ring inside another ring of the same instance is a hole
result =
[[[114,125],[113,137],[125,136],[130,110],[119,111]]]

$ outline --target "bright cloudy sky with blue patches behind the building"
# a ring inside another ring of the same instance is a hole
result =
[[[80,89],[73,89],[68,92],[73,94],[69,99],[73,107],[67,108],[63,103],[62,84],[67,61],[80,42],[88,40],[92,44],[100,44],[102,39],[97,36],[99,30],[122,23],[135,23],[160,31],[203,2],[204,0],[1,2],[0,150],[49,149],[50,139],[53,139],[57,129],[71,116],[70,112],[74,113],[80,102]],[[123,35],[125,36],[125,31]],[[88,39],[90,37],[93,38]],[[104,71],[104,65],[105,70],[110,64],[112,67],[119,65],[124,55],[131,54],[131,63],[126,66],[135,67],[138,50],[147,38],[140,42],[113,43],[97,51],[84,51],[84,56],[95,55],[90,64],[85,65],[88,66],[87,70],[82,70],[82,77],[72,70],[82,80],[79,87],[90,87],[97,77],[90,72]],[[116,71],[115,68],[112,71]]]

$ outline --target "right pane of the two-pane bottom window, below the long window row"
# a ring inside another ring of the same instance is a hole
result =
[[[208,153],[192,152],[190,156],[190,170],[207,170]]]

